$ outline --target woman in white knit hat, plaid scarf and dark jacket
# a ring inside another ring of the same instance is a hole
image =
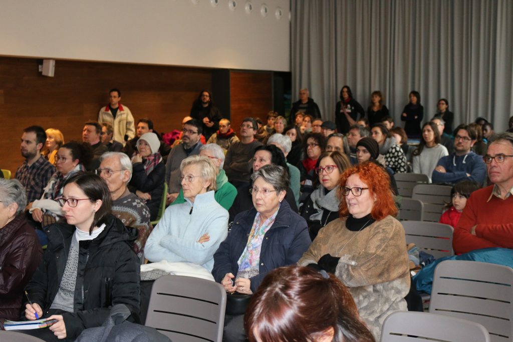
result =
[[[159,146],[159,138],[155,133],[144,133],[137,140],[139,152],[131,159],[133,173],[129,183],[130,190],[148,206],[152,221],[159,214],[166,174]]]

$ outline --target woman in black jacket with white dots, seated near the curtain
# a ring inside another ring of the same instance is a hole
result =
[[[371,129],[372,138],[380,146],[380,154],[385,157],[386,166],[392,169],[394,173],[408,172],[406,156],[396,139],[390,136],[390,132],[383,124],[376,124]]]

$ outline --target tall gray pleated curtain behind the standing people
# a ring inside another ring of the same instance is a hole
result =
[[[447,98],[453,127],[483,116],[496,131],[513,115],[513,1],[291,0],[292,100],[308,88],[334,120],[348,85],[364,109],[381,90],[400,122],[417,90],[424,121]]]

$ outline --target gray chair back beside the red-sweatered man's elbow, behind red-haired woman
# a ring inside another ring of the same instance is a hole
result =
[[[406,243],[415,245],[426,253],[438,258],[454,255],[452,234],[449,225],[426,221],[402,221],[406,234]]]

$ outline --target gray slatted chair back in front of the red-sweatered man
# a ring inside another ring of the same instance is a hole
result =
[[[445,260],[435,269],[429,312],[482,324],[492,342],[513,340],[513,269]]]

